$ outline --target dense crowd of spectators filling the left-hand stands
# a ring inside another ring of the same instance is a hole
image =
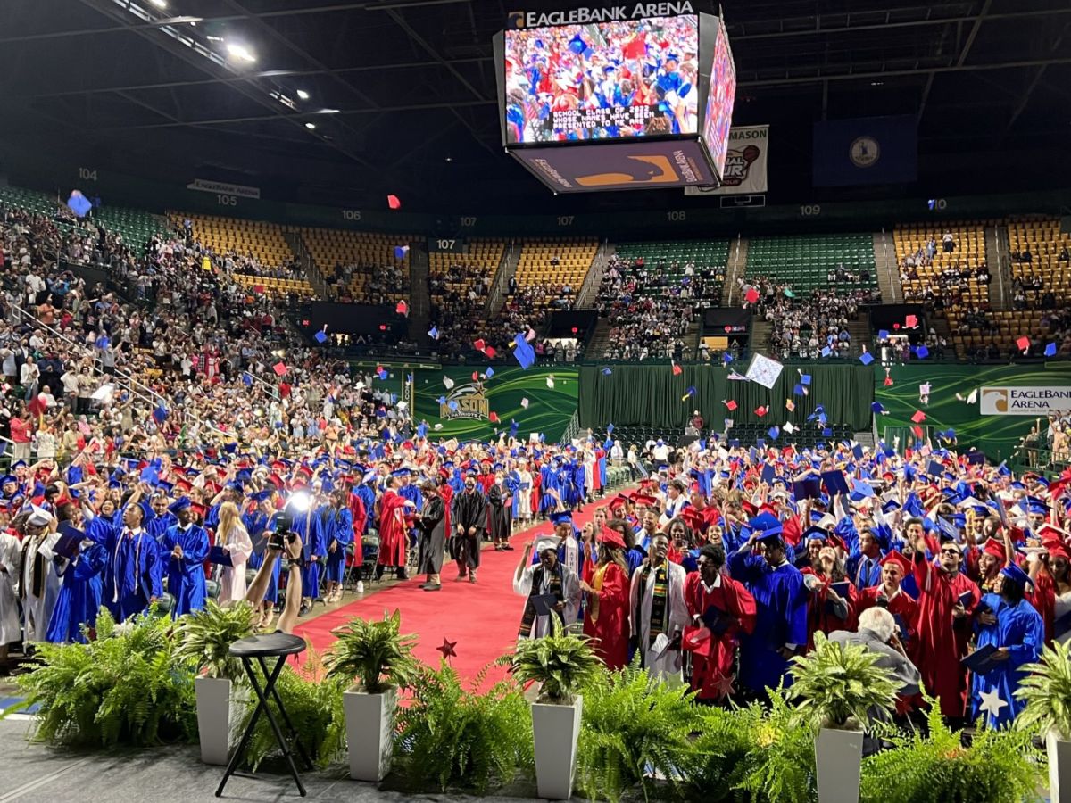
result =
[[[235,284],[195,231],[135,249],[70,223],[62,209],[0,210],[0,435],[20,458],[304,445],[405,423],[347,362],[306,348],[275,301]],[[106,270],[118,291],[57,254]]]

